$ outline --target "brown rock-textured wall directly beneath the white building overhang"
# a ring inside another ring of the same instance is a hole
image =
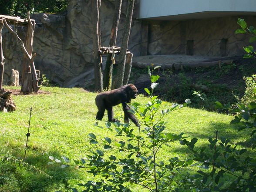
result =
[[[183,21],[143,21],[148,24],[148,55],[189,54],[236,56],[243,55],[249,35],[235,34],[237,19],[256,26],[256,16],[232,16]],[[226,47],[226,51],[223,50]],[[224,52],[224,53],[223,53]]]

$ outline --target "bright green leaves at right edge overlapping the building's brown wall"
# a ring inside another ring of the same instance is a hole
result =
[[[246,21],[241,18],[238,18],[237,24],[239,24],[241,28],[236,30],[236,34],[249,34],[251,35],[249,43],[256,41],[256,29],[253,26],[247,27]],[[243,49],[246,51],[244,58],[256,58],[256,50],[254,50],[253,46],[248,45],[243,47]]]

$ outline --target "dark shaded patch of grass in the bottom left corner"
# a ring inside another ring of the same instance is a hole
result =
[[[57,151],[51,151],[48,154],[61,159],[61,155]],[[7,155],[6,155],[7,156]],[[19,163],[14,159],[0,161],[0,191],[20,191],[20,192],[49,192],[49,191],[71,191],[69,181],[78,179],[79,171],[74,168],[61,168],[61,164],[48,165],[50,162],[49,155],[27,155],[22,162]],[[12,180],[17,186],[8,183]]]

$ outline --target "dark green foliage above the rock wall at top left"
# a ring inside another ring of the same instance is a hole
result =
[[[30,13],[60,13],[66,10],[68,0],[1,0],[0,14],[27,17]]]

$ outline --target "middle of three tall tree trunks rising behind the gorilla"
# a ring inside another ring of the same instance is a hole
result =
[[[122,7],[122,0],[116,0],[109,47],[113,47],[116,44],[118,25],[119,25],[119,20],[121,15],[121,7]],[[107,90],[111,90],[111,87],[112,87],[113,62],[111,60],[111,57],[112,57],[112,54],[108,54],[106,67],[104,70],[104,78],[103,78],[103,88]]]

